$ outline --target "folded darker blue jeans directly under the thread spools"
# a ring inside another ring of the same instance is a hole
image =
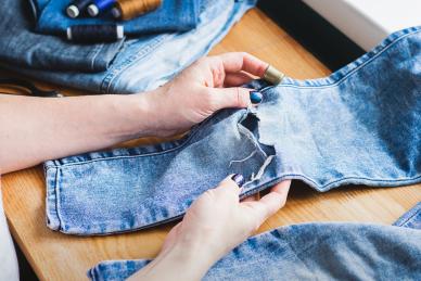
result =
[[[29,0],[37,18],[36,31],[65,36],[66,28],[81,24],[120,24],[124,25],[125,35],[139,36],[154,33],[187,31],[197,24],[200,0],[171,0],[163,1],[162,5],[148,14],[131,21],[117,21],[105,13],[97,17],[79,16],[69,18],[66,7],[71,0]],[[205,1],[206,2],[206,1]],[[204,7],[203,7],[204,8]]]

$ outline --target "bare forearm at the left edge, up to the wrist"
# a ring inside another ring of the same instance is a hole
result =
[[[151,133],[150,94],[0,94],[0,174]]]

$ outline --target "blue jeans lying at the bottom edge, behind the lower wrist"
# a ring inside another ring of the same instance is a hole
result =
[[[303,223],[250,238],[203,280],[420,280],[421,203],[392,226]],[[109,260],[94,281],[125,280],[151,260]]]

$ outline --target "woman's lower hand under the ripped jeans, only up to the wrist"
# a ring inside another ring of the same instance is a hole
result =
[[[188,209],[184,218],[167,235],[163,251],[181,244],[202,252],[210,264],[217,261],[247,239],[286,202],[291,180],[275,186],[260,200],[240,202],[241,189],[229,177],[203,193]]]

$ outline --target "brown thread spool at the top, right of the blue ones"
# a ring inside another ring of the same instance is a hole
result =
[[[117,0],[112,9],[113,16],[129,21],[144,13],[156,10],[162,0]]]

